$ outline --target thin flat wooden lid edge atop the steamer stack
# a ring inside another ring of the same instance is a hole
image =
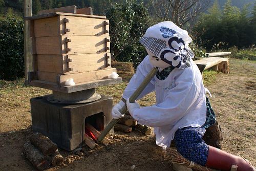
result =
[[[25,20],[34,20],[34,19],[41,19],[41,18],[54,17],[54,16],[58,16],[58,15],[79,16],[79,17],[89,17],[89,18],[106,19],[105,16],[99,16],[99,15],[84,15],[84,14],[72,14],[72,13],[64,13],[64,12],[53,12],[53,13],[48,13],[48,14],[41,14],[41,15],[29,16],[29,17],[24,17],[24,19],[25,19]]]

